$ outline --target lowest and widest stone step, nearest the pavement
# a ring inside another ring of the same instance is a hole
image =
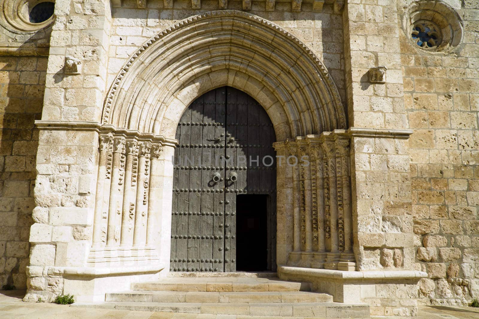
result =
[[[366,304],[336,302],[309,303],[162,303],[162,302],[102,302],[74,303],[71,307],[106,308],[137,311],[163,311],[244,316],[370,318]]]

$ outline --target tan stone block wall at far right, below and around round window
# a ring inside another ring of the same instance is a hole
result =
[[[400,28],[401,60],[414,130],[416,269],[429,275],[420,282],[420,297],[461,304],[479,297],[479,4],[447,2],[463,20],[462,44],[454,54],[429,53]]]

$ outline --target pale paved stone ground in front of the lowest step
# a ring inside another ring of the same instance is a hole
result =
[[[28,318],[28,319],[96,319],[96,318],[149,318],[149,319],[241,319],[241,318],[275,318],[275,317],[255,317],[255,316],[234,316],[234,315],[208,315],[208,314],[188,314],[171,312],[148,312],[148,311],[129,311],[129,310],[110,310],[97,308],[73,308],[63,305],[22,302],[25,291],[0,291],[0,318]],[[292,318],[292,317],[283,317]],[[374,319],[403,319],[411,317],[372,317]],[[479,308],[470,307],[430,307],[422,306],[419,310],[418,319],[463,319],[478,318]]]

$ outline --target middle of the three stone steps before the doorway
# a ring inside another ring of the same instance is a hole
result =
[[[306,291],[207,292],[129,291],[106,294],[105,301],[201,302],[201,303],[289,303],[332,302],[332,296]]]

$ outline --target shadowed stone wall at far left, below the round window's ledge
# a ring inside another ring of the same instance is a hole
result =
[[[0,56],[0,286],[26,287],[46,61]]]

